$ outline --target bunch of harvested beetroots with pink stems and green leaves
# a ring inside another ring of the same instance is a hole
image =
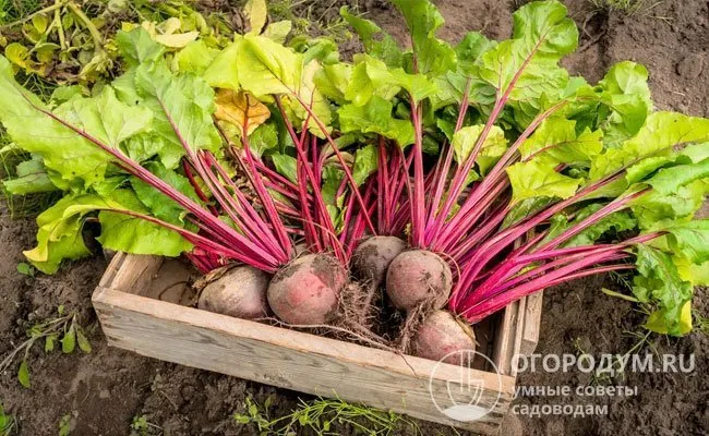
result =
[[[351,62],[262,14],[221,51],[122,33],[125,73],[91,96],[40,101],[0,58],[0,121],[65,193],[27,257],[53,272],[88,254],[97,219],[105,247],[184,254],[201,308],[450,362],[509,303],[609,271],[635,270],[647,328],[687,332],[709,281],[693,219],[709,120],[654,112],[634,63],[570,77],[557,1],[517,11],[510,39],[455,46],[429,0],[393,3],[411,49],[344,9]]]

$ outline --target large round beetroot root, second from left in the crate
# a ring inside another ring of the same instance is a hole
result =
[[[287,324],[327,324],[337,315],[347,271],[328,254],[309,254],[281,268],[268,286],[268,304]]]

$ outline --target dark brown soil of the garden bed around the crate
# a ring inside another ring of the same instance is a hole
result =
[[[327,20],[339,3],[311,1],[311,10]],[[518,1],[517,1],[518,2]],[[331,4],[332,3],[332,4]],[[354,0],[349,3],[356,3]],[[404,29],[393,11],[381,1],[365,2],[368,15],[404,40]],[[447,19],[443,36],[459,38],[467,29],[482,29],[490,37],[509,35],[513,1],[440,0]],[[706,0],[645,1],[633,14],[594,10],[589,1],[566,1],[581,28],[580,49],[565,65],[589,81],[598,81],[613,63],[630,59],[647,65],[659,109],[709,117],[709,3]],[[359,2],[361,5],[362,2]],[[325,9],[327,8],[327,9]],[[4,206],[2,206],[4,207]],[[25,337],[34,323],[56,316],[57,306],[76,313],[93,346],[88,354],[29,354],[32,388],[16,380],[16,365],[0,375],[0,402],[17,416],[19,435],[56,435],[59,422],[70,416],[71,435],[129,435],[134,417],[145,415],[155,425],[149,434],[256,435],[252,425],[239,425],[235,412],[244,412],[244,400],[263,402],[273,396],[271,416],[289,413],[299,398],[284,389],[192,370],[108,348],[91,306],[91,293],[106,261],[103,256],[75,262],[53,277],[27,277],[15,270],[22,250],[31,247],[33,220],[11,220],[0,209],[0,355]],[[630,303],[600,292],[611,279],[594,278],[548,290],[537,353],[624,354],[638,344],[629,332],[641,331],[640,314]],[[699,290],[694,310],[709,316],[707,292]],[[577,370],[525,372],[521,386],[637,387],[630,397],[564,398],[525,397],[516,404],[606,404],[601,416],[508,416],[503,435],[704,435],[709,431],[709,378],[706,377],[707,336],[700,331],[681,339],[649,337],[635,352],[695,355],[690,374],[632,373],[598,379]],[[161,431],[159,428],[161,428]],[[421,423],[424,435],[453,435],[454,431]],[[340,434],[354,434],[351,428]],[[396,434],[412,434],[401,429]]]

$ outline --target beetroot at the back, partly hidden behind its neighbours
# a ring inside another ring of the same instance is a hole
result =
[[[378,288],[386,270],[396,256],[406,250],[406,242],[396,237],[373,237],[362,242],[352,255],[352,269],[357,276]]]

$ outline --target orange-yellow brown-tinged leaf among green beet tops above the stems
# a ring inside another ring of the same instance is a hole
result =
[[[215,102],[215,118],[239,126],[247,135],[271,117],[271,111],[264,104],[243,90],[219,89]]]

